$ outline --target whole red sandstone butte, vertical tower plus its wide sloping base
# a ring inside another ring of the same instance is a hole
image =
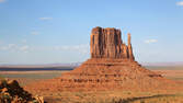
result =
[[[90,36],[91,58],[60,77],[25,87],[28,91],[180,90],[180,85],[140,66],[121,30],[94,27]]]

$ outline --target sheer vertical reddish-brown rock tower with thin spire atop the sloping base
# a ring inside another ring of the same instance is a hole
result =
[[[123,44],[121,30],[94,27],[91,33],[91,58],[128,58],[134,60],[128,34],[128,45]]]

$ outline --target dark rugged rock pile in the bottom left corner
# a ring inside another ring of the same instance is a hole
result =
[[[0,81],[0,103],[44,103],[20,87],[16,80]]]

